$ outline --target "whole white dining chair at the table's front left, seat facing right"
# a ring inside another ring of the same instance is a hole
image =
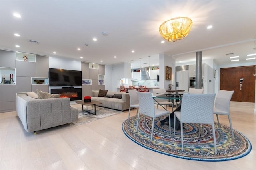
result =
[[[170,113],[170,111],[167,111],[164,109],[156,109],[154,106],[153,96],[150,92],[136,92],[136,93],[137,93],[138,99],[139,99],[139,112],[138,112],[136,131],[138,130],[140,114],[152,117],[152,129],[151,129],[151,137],[150,137],[150,141],[152,141],[155,118],[168,114],[168,116],[169,116],[169,131],[170,131],[170,135],[171,135],[171,117],[170,117],[171,113]],[[146,125],[146,116],[144,116],[145,125]]]

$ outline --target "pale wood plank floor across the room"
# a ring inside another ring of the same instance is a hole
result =
[[[24,131],[16,112],[0,113],[0,170],[253,170],[254,103],[231,102],[230,110],[233,128],[250,140],[252,151],[224,162],[174,158],[137,145],[122,132],[128,111],[84,125],[38,131],[36,135]],[[220,122],[228,125],[227,116],[220,116]]]

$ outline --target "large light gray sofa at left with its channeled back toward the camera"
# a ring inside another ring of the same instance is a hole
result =
[[[78,119],[78,110],[70,107],[70,98],[35,99],[17,94],[16,112],[24,129],[34,133]]]

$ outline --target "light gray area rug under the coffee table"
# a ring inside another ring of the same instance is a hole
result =
[[[71,107],[75,107],[76,109],[78,109],[78,121],[72,122],[76,126],[77,125],[82,125],[84,123],[88,123],[88,122],[91,122],[91,121],[95,121],[95,120],[98,120],[98,119],[102,119],[104,117],[109,117],[109,116],[112,116],[112,115],[123,113],[122,111],[96,106],[96,115],[90,114],[90,113],[85,112],[85,111],[84,111],[84,114],[86,114],[86,115],[83,115],[82,105],[76,104],[76,105],[71,105]],[[91,109],[92,109],[92,106],[84,106],[84,110],[91,110]],[[90,111],[90,112],[94,113],[94,110]]]

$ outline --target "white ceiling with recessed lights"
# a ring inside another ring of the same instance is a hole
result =
[[[178,16],[192,19],[190,33],[160,43],[159,26]],[[0,0],[0,49],[138,68],[148,66],[148,56],[158,65],[163,53],[176,62],[195,61],[196,51],[218,64],[231,64],[227,53],[245,62],[256,53],[255,41],[256,0]]]

